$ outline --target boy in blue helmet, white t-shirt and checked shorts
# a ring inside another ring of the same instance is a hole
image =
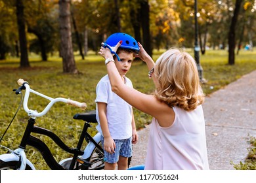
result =
[[[131,68],[133,54],[139,51],[139,46],[133,37],[125,33],[114,33],[105,43],[114,46],[120,40],[122,44],[114,53],[114,59],[106,59],[105,64],[114,61],[123,83],[133,88],[131,80],[125,75]],[[102,135],[105,169],[114,170],[117,165],[117,169],[125,170],[128,168],[128,158],[132,156],[132,144],[138,140],[133,108],[112,92],[108,75],[102,77],[96,86],[95,102],[96,128]]]

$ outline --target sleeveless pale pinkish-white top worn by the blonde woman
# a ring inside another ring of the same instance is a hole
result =
[[[209,169],[202,105],[189,112],[179,107],[173,110],[175,120],[170,127],[152,120],[145,169]]]

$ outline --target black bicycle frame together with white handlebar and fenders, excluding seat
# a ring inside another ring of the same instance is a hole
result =
[[[20,80],[18,80],[19,83]],[[48,110],[53,106],[54,103],[58,101],[62,101],[64,103],[69,103],[72,105],[75,105],[80,108],[85,108],[86,104],[85,103],[79,103],[77,101],[72,101],[70,99],[64,99],[64,98],[56,98],[53,99],[51,97],[48,97],[47,95],[43,95],[42,93],[35,92],[34,90],[30,89],[30,86],[28,85],[27,82],[24,82],[24,80],[21,80],[20,83],[20,88],[18,90],[14,90],[16,94],[19,94],[21,90],[26,89],[25,97],[24,97],[24,110],[28,113],[30,119],[28,120],[28,124],[26,126],[26,129],[24,131],[24,135],[22,136],[22,141],[20,142],[19,148],[12,151],[9,148],[7,148],[9,151],[11,151],[11,156],[10,154],[6,154],[6,156],[1,156],[4,159],[7,159],[9,161],[19,161],[20,162],[20,167],[19,169],[26,169],[26,164],[32,168],[35,169],[33,164],[26,158],[26,154],[24,150],[26,149],[26,146],[33,146],[39,152],[41,152],[43,159],[45,159],[45,162],[47,165],[50,167],[50,169],[67,169],[66,167],[62,166],[61,163],[58,163],[56,159],[54,159],[53,154],[51,153],[51,150],[49,150],[48,146],[38,139],[37,137],[34,137],[32,133],[36,134],[41,134],[41,135],[46,135],[47,137],[51,138],[62,150],[73,154],[72,161],[70,163],[70,167],[68,169],[74,169],[75,163],[81,163],[81,161],[78,161],[77,158],[78,156],[81,156],[83,158],[83,165],[90,165],[89,162],[87,162],[85,159],[89,158],[91,156],[91,153],[93,152],[95,146],[103,152],[102,147],[98,145],[98,142],[100,142],[100,134],[96,134],[95,137],[91,137],[89,133],[87,132],[88,127],[91,127],[89,122],[86,122],[86,118],[80,119],[80,120],[85,120],[85,124],[83,125],[83,130],[81,132],[81,135],[79,137],[79,141],[77,142],[77,146],[75,148],[70,148],[67,146],[55,133],[52,131],[49,131],[48,129],[38,127],[35,125],[35,118],[38,116],[43,116],[45,115]],[[44,97],[45,99],[49,99],[51,102],[45,107],[45,109],[42,112],[37,112],[37,110],[30,110],[28,108],[28,97],[30,95],[30,92],[35,93],[37,95],[40,95],[41,97]],[[85,150],[81,150],[81,146],[83,145],[83,141],[89,142],[85,148]],[[3,146],[4,147],[4,146]],[[6,148],[6,147],[5,147]],[[62,161],[65,161],[63,159]]]

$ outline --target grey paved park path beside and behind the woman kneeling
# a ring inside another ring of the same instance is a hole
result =
[[[256,71],[212,93],[203,111],[210,169],[234,169],[230,162],[244,162],[249,136],[256,137]],[[138,131],[131,166],[144,164],[149,129]]]

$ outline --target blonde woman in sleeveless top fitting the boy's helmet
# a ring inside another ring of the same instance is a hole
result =
[[[116,51],[121,41],[112,47]],[[123,84],[113,62],[106,65],[112,91],[133,107],[153,116],[145,169],[209,169],[205,139],[203,95],[196,63],[181,49],[164,52],[154,63],[138,42],[137,55],[150,70],[154,95],[139,92]],[[99,54],[113,58],[110,49]]]

